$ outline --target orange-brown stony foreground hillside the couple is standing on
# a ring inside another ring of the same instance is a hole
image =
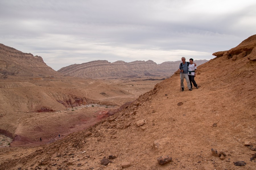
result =
[[[1,148],[0,169],[255,169],[256,35],[213,55],[197,68],[199,89],[180,92],[176,72],[85,130],[40,146]],[[59,122],[79,118],[62,114]],[[54,130],[36,121],[34,130]]]

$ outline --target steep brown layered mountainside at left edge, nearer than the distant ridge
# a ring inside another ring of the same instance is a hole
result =
[[[44,63],[42,57],[23,53],[15,48],[0,44],[0,77],[8,76],[60,76]]]

